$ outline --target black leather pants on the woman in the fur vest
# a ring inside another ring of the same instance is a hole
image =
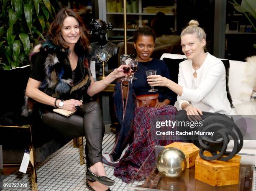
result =
[[[75,114],[65,117],[55,112],[42,116],[42,121],[65,138],[86,138],[85,155],[87,168],[102,162],[102,140],[105,132],[100,105],[97,102],[82,104]]]

